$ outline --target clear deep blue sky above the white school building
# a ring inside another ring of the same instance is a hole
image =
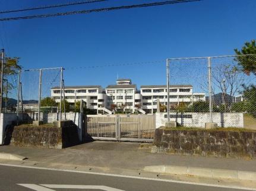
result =
[[[54,1],[54,4],[63,2],[68,1]],[[140,2],[149,1],[112,0],[12,15],[65,12]],[[46,4],[53,4],[53,1],[1,0],[0,9]],[[6,49],[8,56],[21,57],[20,64],[24,69],[65,67],[65,85],[106,87],[115,83],[117,75],[131,78],[137,86],[162,85],[166,83],[167,57],[233,54],[234,48],[255,39],[255,10],[255,0],[205,0],[161,7],[0,22],[0,47]],[[11,14],[0,15],[1,18],[9,16]],[[159,62],[84,68],[147,61]],[[189,73],[192,67],[189,65],[184,71]]]

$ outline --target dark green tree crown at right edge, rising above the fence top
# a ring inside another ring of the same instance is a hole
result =
[[[238,48],[236,48],[235,53],[237,55],[256,54],[255,40],[252,40],[251,42],[246,42],[245,45],[241,48],[241,50],[238,50]],[[238,56],[236,60],[238,61],[238,64],[242,67],[242,70],[246,73],[246,75],[249,75],[250,73],[256,75],[255,56]]]

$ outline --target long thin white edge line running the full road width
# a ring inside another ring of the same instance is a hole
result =
[[[223,187],[223,188],[229,188],[229,189],[242,189],[242,190],[256,191],[256,188],[254,188],[254,187],[225,186],[225,185],[218,185],[218,184],[195,183],[195,182],[187,182],[187,181],[180,181],[180,180],[156,179],[156,178],[121,175],[121,174],[94,173],[91,171],[78,171],[78,170],[52,169],[52,168],[46,168],[46,167],[22,166],[22,165],[18,165],[18,164],[0,163],[0,165],[1,166],[11,166],[11,167],[21,167],[21,168],[26,168],[26,169],[65,171],[65,172],[71,172],[71,173],[94,174],[94,175],[102,175],[102,176],[123,177],[123,178],[129,178],[129,179],[153,180],[153,181],[159,181],[159,182],[170,182],[170,183],[191,184],[191,185],[198,185],[198,186]]]

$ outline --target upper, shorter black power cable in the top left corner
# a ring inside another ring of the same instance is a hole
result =
[[[12,9],[12,10],[7,10],[7,11],[0,11],[0,14],[10,13],[10,12],[31,11],[31,10],[37,10],[37,9],[48,9],[48,8],[56,8],[56,7],[67,7],[70,5],[90,4],[93,2],[102,2],[102,1],[109,1],[109,0],[78,1],[78,2],[69,2],[67,4],[55,4],[55,5],[45,5],[45,6],[41,6],[41,7],[24,8],[24,9]]]

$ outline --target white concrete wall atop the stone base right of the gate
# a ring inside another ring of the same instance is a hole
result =
[[[170,112],[170,121],[176,121],[184,127],[204,128],[210,122],[210,113],[181,113]],[[167,113],[156,113],[156,128],[165,126]],[[244,115],[242,113],[213,113],[213,122],[218,127],[244,128]]]

